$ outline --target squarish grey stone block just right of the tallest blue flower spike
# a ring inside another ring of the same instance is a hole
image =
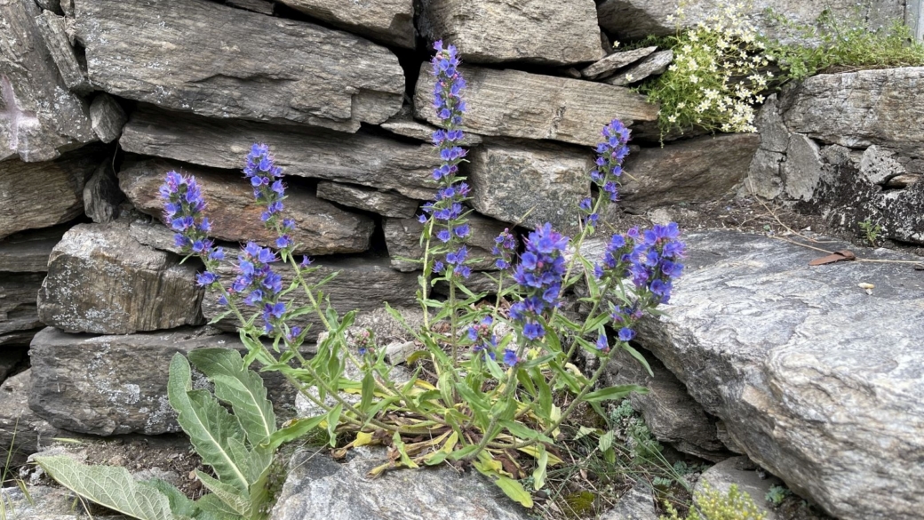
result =
[[[482,215],[528,228],[545,222],[561,231],[577,226],[577,204],[590,196],[590,150],[492,140],[472,149],[468,160],[463,172],[471,204]]]

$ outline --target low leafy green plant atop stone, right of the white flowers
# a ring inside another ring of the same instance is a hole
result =
[[[784,43],[764,39],[766,54],[783,69],[783,79],[802,80],[831,68],[891,68],[924,65],[924,43],[900,20],[870,31],[857,9],[835,16],[828,9],[812,24],[796,24],[768,9],[791,36]]]

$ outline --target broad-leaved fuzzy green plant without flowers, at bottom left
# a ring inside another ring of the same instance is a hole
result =
[[[125,468],[67,456],[36,457],[36,464],[80,497],[140,520],[264,518],[271,498],[266,482],[279,442],[271,440],[276,419],[262,379],[233,350],[200,349],[188,358],[212,381],[214,395],[193,390],[189,363],[180,353],[170,363],[167,393],[180,427],[217,477],[196,472],[211,494],[191,501],[163,480],[139,482]]]

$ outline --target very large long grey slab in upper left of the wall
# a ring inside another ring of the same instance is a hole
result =
[[[346,32],[205,0],[76,7],[90,80],[108,93],[203,116],[350,132],[401,107],[397,56]]]

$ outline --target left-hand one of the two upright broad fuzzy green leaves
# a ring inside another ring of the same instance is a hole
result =
[[[167,396],[178,414],[177,422],[189,436],[202,462],[211,465],[225,484],[242,492],[249,489],[244,469],[247,462],[238,461],[228,449],[230,439],[244,442],[244,429],[211,393],[192,390],[189,363],[183,354],[176,353],[170,362]]]

